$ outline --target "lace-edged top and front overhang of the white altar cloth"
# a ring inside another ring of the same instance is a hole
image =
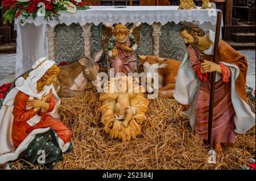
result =
[[[120,6],[119,6],[120,7]],[[203,24],[210,22],[216,24],[218,10],[200,10],[200,7],[193,10],[178,10],[177,6],[125,6],[126,8],[118,8],[114,6],[92,6],[88,10],[79,10],[75,14],[61,11],[60,23],[65,23],[69,26],[72,23],[79,23],[84,26],[86,23],[94,23],[96,26],[101,22],[114,23],[134,23],[142,22],[153,24],[160,22],[162,25],[167,22],[175,22],[176,24],[186,20],[192,22],[193,20]],[[20,16],[15,21],[15,24],[20,20],[24,23],[34,23],[35,26],[41,24],[49,24],[51,27],[56,26],[59,22],[56,20],[44,20],[43,16],[38,16],[36,19],[24,18]]]

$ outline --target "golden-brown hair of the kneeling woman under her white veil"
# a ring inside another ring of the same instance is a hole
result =
[[[41,77],[38,82],[36,83],[36,90],[38,92],[43,90],[44,85],[46,84],[46,81],[49,77],[52,77],[52,75],[57,75],[60,73],[59,67],[54,64],[51,68],[49,68],[46,73],[44,73],[43,77]]]

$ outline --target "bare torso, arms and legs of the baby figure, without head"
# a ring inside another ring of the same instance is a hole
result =
[[[137,95],[137,93],[126,92],[108,94],[108,98],[117,100],[114,108],[115,119],[123,120],[122,125],[126,128],[136,113],[136,108],[131,106],[130,99],[135,98]]]

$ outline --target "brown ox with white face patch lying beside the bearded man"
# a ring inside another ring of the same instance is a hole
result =
[[[175,81],[181,61],[156,56],[138,56],[144,73],[159,73],[158,92],[167,98],[174,98]],[[148,80],[147,80],[148,81]],[[151,80],[150,80],[151,82]]]

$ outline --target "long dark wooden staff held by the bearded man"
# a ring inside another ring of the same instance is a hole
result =
[[[213,51],[214,63],[217,62],[217,56],[218,56],[218,44],[220,43],[220,31],[221,31],[221,18],[222,18],[222,11],[218,11],[215,40],[214,40],[214,51]],[[214,108],[213,102],[214,102],[215,79],[216,79],[216,71],[213,71],[212,82],[210,83],[210,103],[209,103],[209,115],[208,115],[208,140],[207,140],[208,149],[210,149],[210,142],[212,137],[212,118],[213,118],[213,108]]]

